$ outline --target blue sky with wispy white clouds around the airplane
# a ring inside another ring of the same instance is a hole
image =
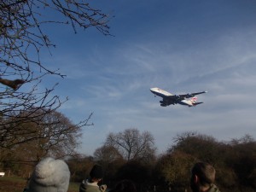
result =
[[[41,60],[66,79],[55,94],[68,96],[61,108],[73,122],[93,112],[79,152],[93,154],[108,133],[149,131],[158,153],[185,131],[230,141],[256,138],[256,2],[253,0],[100,0],[92,7],[114,15],[114,37],[96,29],[51,26],[57,44]],[[42,86],[44,85],[42,84]],[[208,90],[196,108],[160,107],[149,91],[174,94]]]

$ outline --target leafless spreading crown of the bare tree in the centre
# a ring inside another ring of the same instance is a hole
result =
[[[125,160],[148,161],[155,155],[154,137],[148,131],[140,134],[137,129],[126,129],[110,133],[105,145],[116,148]]]

